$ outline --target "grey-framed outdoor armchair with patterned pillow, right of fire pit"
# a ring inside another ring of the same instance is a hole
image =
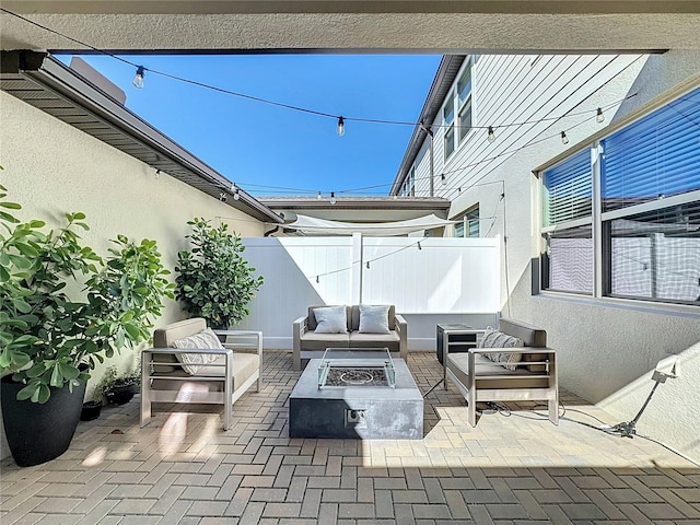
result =
[[[508,318],[497,330],[474,331],[477,348],[443,359],[444,386],[452,381],[467,400],[469,424],[477,424],[477,402],[530,400],[546,401],[549,420],[559,424],[557,352],[547,347],[547,332]]]

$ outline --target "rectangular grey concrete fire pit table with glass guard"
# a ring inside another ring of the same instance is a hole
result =
[[[329,348],[289,399],[290,438],[421,440],[423,396],[386,348]]]

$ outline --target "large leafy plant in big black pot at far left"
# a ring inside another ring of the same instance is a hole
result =
[[[12,215],[21,206],[4,191],[0,186],[2,416],[16,464],[28,466],[66,452],[89,371],[150,338],[174,284],[155,241],[118,235],[103,259],[81,242],[83,213],[67,213],[63,228],[46,231],[43,221]]]

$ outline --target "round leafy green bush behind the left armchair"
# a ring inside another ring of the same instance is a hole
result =
[[[255,268],[242,255],[241,237],[229,233],[228,224],[214,228],[197,218],[187,224],[192,228],[187,237],[194,247],[177,254],[176,296],[186,312],[203,317],[213,328],[235,325],[250,313],[247,305],[264,279],[255,277]]]

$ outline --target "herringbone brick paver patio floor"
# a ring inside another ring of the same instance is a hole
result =
[[[433,353],[408,362],[423,393],[440,381]],[[234,405],[229,432],[215,406],[140,429],[137,398],[82,422],[58,459],[2,460],[0,523],[700,524],[699,468],[573,422],[598,424],[576,410],[617,421],[567,393],[559,427],[514,407],[472,429],[456,389],[439,386],[423,440],[290,440],[291,369],[289,352],[266,352],[265,388]]]

